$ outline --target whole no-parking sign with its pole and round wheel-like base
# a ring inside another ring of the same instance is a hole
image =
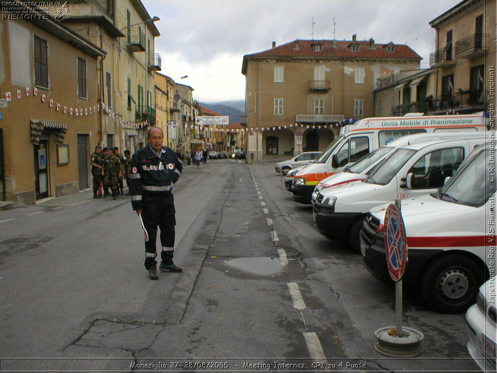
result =
[[[402,327],[402,278],[408,262],[406,227],[401,213],[401,199],[391,203],[384,218],[385,254],[390,277],[395,281],[395,328],[384,327],[375,332],[378,342],[375,350],[392,357],[414,357],[421,354],[424,347],[423,333],[413,328]]]

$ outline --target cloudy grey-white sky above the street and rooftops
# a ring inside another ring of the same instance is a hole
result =
[[[243,56],[299,39],[373,37],[407,44],[429,67],[435,31],[428,22],[460,0],[142,0],[159,16],[156,52],[162,72],[195,91],[203,102],[245,99]]]

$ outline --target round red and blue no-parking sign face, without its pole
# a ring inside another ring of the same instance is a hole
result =
[[[385,211],[385,253],[390,277],[402,280],[407,262],[407,236],[401,212],[394,203]]]

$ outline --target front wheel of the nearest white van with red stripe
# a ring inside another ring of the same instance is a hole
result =
[[[442,313],[463,313],[476,302],[485,280],[481,266],[460,254],[444,255],[426,268],[421,290],[428,305]]]

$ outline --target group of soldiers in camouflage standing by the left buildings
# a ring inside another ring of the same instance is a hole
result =
[[[112,195],[112,199],[117,199],[119,192],[124,194],[123,176],[126,177],[126,183],[129,185],[131,175],[131,152],[129,150],[125,150],[123,156],[119,153],[117,146],[108,149],[97,145],[90,156],[90,163],[93,176],[93,198],[101,198],[98,194],[100,183],[104,197]],[[126,193],[126,195],[129,194]]]

